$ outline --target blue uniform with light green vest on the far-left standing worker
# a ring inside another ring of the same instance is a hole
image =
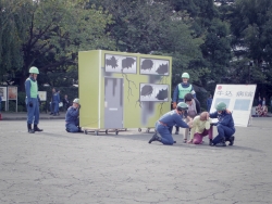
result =
[[[27,124],[38,125],[39,124],[39,95],[38,95],[38,84],[33,77],[28,77],[25,80],[25,92],[26,92],[26,109],[27,109]],[[32,104],[32,106],[30,106]]]

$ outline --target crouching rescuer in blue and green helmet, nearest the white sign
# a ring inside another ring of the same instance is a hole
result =
[[[224,102],[220,102],[215,106],[215,112],[210,113],[210,118],[218,118],[217,128],[218,136],[212,140],[211,145],[218,146],[226,146],[225,141],[228,141],[228,145],[233,145],[234,143],[234,120],[232,113],[226,110],[226,104]]]

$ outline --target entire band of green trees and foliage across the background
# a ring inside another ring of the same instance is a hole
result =
[[[268,98],[272,1],[217,2],[222,5],[213,0],[0,0],[0,80],[23,91],[35,65],[40,89],[71,87],[78,80],[78,51],[106,49],[172,56],[172,86],[188,72],[190,82],[210,93],[218,82],[250,82]]]

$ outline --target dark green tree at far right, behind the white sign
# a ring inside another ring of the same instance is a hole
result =
[[[245,81],[246,75],[246,82],[257,84],[263,95],[272,94],[272,2],[237,0],[222,10],[231,24],[233,69],[244,69],[236,81]],[[244,65],[248,63],[251,66]]]

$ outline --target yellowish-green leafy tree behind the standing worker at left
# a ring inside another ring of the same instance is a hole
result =
[[[106,33],[111,16],[96,8],[86,9],[85,1],[40,0],[34,2],[27,39],[23,43],[24,66],[18,73],[21,88],[28,68],[41,73],[76,68],[81,50],[111,49],[114,43]],[[50,84],[50,81],[48,81]]]

